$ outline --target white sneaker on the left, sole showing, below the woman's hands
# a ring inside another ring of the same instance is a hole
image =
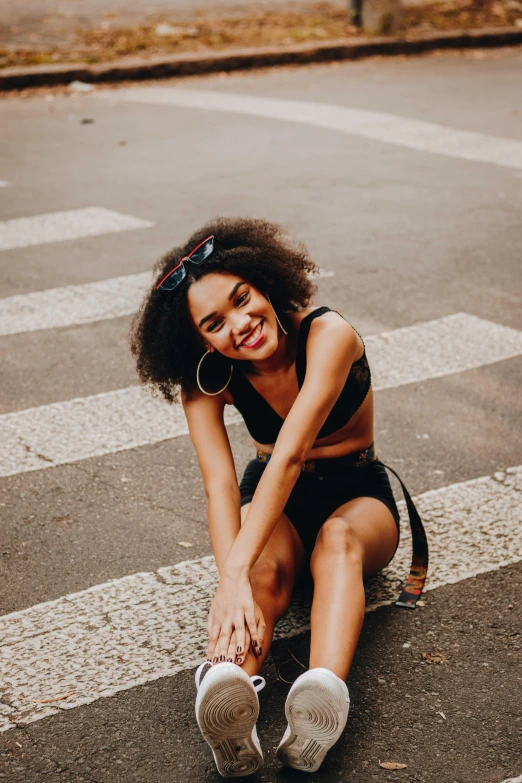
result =
[[[217,663],[207,671],[205,661],[196,672],[196,718],[210,745],[219,774],[224,778],[252,775],[263,763],[256,731],[258,691],[263,677],[249,677],[235,663]],[[254,681],[256,684],[254,685]]]

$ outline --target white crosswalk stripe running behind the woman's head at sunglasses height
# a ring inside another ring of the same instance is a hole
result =
[[[315,279],[333,277],[321,269]],[[131,315],[152,282],[151,272],[49,288],[0,299],[0,336],[78,326]]]

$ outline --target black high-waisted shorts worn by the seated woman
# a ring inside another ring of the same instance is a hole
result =
[[[399,531],[399,511],[386,468],[380,460],[363,466],[346,466],[337,470],[336,459],[317,460],[320,474],[301,473],[284,513],[297,530],[308,557],[312,554],[317,534],[328,517],[339,506],[355,498],[380,500],[391,514]],[[250,503],[267,463],[251,460],[239,485],[241,505]],[[398,545],[398,542],[397,542]]]

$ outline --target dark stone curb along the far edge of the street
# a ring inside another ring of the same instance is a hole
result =
[[[472,49],[522,44],[522,29],[512,27],[436,33],[416,38],[373,38],[371,41],[344,39],[320,44],[294,44],[284,48],[233,49],[173,55],[151,59],[126,58],[97,65],[60,64],[4,68],[0,70],[0,91],[69,84],[78,80],[92,84],[197,76],[222,71],[240,71],[277,65],[357,60],[374,55],[419,54],[437,49]]]

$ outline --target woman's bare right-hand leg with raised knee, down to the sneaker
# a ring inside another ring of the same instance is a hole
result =
[[[311,669],[346,680],[364,620],[363,579],[384,568],[397,540],[390,510],[375,498],[345,503],[321,527],[311,559]]]

